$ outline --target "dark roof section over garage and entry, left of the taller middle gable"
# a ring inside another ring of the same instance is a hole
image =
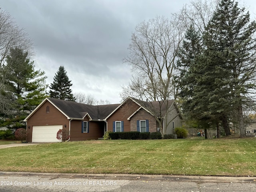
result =
[[[104,120],[108,114],[119,106],[119,104],[93,106],[72,101],[46,98],[27,116],[24,121],[27,121],[28,118],[30,118],[30,116],[32,116],[46,101],[49,101],[53,106],[55,106],[67,117],[67,119],[77,120],[83,120],[86,115],[88,115],[90,120]]]

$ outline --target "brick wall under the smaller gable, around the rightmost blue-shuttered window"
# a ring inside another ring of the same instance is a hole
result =
[[[144,109],[132,116],[130,120],[131,131],[137,131],[137,120],[148,120],[149,132],[157,132],[156,119]]]

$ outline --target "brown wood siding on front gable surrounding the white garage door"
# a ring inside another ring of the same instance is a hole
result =
[[[49,113],[46,113],[46,107],[49,106]],[[50,102],[46,101],[29,119],[27,122],[26,141],[32,142],[33,126],[45,125],[62,125],[64,129],[69,129],[69,120]],[[66,128],[65,126],[66,125]],[[56,133],[57,134],[57,133]]]

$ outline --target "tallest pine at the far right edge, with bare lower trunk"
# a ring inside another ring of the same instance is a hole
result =
[[[235,112],[240,136],[246,136],[242,110],[252,107],[250,94],[256,88],[256,22],[250,22],[249,12],[239,8],[238,2],[222,0],[206,31],[204,44],[215,55],[211,59],[219,59],[214,81],[218,87],[214,94],[222,106],[219,110]]]

